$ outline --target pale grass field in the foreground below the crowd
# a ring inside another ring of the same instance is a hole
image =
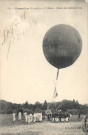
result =
[[[72,116],[69,122],[49,121],[26,124],[24,120],[12,122],[12,115],[0,115],[0,135],[87,135],[82,131],[82,119]]]

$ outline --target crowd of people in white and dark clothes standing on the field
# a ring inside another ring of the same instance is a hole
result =
[[[59,113],[48,113],[45,116],[42,115],[41,112],[37,113],[27,113],[27,112],[18,112],[17,114],[13,113],[13,122],[16,120],[24,120],[26,123],[35,123],[41,122],[42,120],[49,120],[52,122],[68,122],[71,114],[60,111]]]

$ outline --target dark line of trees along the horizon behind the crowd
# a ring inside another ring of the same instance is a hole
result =
[[[79,104],[76,100],[62,100],[60,102],[47,102],[44,103],[36,102],[35,104],[30,104],[27,101],[23,104],[17,104],[12,102],[7,102],[5,100],[0,100],[0,114],[12,114],[13,111],[17,110],[26,111],[28,113],[42,112],[50,109],[52,112],[55,110],[68,111],[71,114],[88,114],[88,105]]]

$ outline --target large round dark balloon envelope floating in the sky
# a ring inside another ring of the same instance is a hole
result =
[[[43,39],[45,58],[59,69],[72,65],[79,57],[81,49],[81,36],[69,25],[55,25],[46,32]]]

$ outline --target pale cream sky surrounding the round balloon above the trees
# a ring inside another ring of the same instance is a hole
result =
[[[75,99],[88,104],[86,4],[61,1],[1,4],[0,98],[13,103],[52,102],[57,83],[55,101]],[[57,69],[45,59],[42,43],[45,33],[57,24],[68,24],[80,33],[82,52],[73,65],[60,69],[56,82]]]

